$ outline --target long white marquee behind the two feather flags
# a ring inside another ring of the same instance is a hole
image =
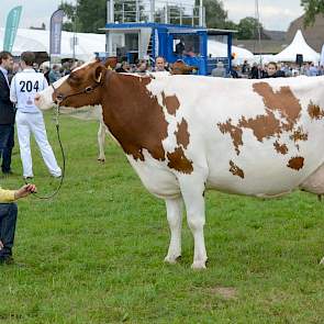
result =
[[[105,52],[104,34],[77,33],[77,45],[75,46],[75,57],[88,60],[94,56],[94,52]],[[74,33],[62,32],[60,57],[72,57]],[[2,47],[4,29],[0,29],[0,46]],[[24,51],[49,53],[49,31],[19,29],[13,44],[12,54],[20,55]]]

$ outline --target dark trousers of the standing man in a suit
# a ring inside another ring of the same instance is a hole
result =
[[[3,174],[11,170],[11,154],[14,146],[14,125],[0,125],[0,158],[2,157],[1,169]]]

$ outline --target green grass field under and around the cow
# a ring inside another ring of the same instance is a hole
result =
[[[111,139],[107,163],[97,163],[97,127],[62,118],[59,194],[19,202],[14,257],[24,266],[0,267],[0,323],[324,323],[324,203],[315,195],[262,201],[208,192],[208,270],[190,269],[186,222],[182,259],[165,265],[165,204]],[[49,193],[57,180],[33,152],[38,192]],[[13,170],[2,187],[22,185],[18,145]]]

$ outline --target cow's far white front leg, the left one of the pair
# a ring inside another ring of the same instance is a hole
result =
[[[182,198],[167,199],[166,206],[171,238],[165,261],[176,264],[181,257]]]

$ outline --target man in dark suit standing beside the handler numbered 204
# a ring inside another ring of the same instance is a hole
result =
[[[14,145],[15,110],[10,101],[8,71],[13,67],[13,58],[9,52],[0,52],[0,159],[4,175],[11,171],[11,153]]]

